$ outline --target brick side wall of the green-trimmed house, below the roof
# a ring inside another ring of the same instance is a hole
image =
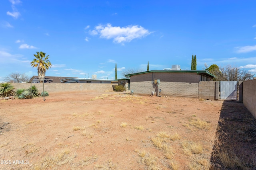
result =
[[[182,96],[198,98],[198,82],[201,76],[196,73],[164,73],[150,72],[130,77],[130,90],[134,94],[150,95],[157,91],[157,85],[152,80],[160,79],[161,96]]]

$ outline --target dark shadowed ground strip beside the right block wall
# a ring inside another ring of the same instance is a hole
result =
[[[210,170],[256,170],[256,119],[237,101],[225,100]]]

